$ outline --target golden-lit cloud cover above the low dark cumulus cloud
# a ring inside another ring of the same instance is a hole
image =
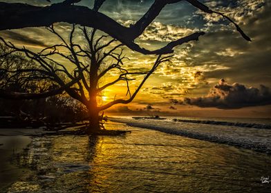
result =
[[[16,0],[6,1],[15,2]],[[30,3],[30,0],[18,1]],[[31,2],[38,3],[41,0]],[[46,3],[45,0],[42,2]],[[53,1],[53,3],[55,2]],[[91,5],[87,1],[83,2],[85,6]],[[227,77],[227,80],[232,83],[236,81],[243,85],[252,85],[254,88],[257,88],[259,84],[271,88],[271,45],[268,41],[271,27],[270,1],[263,3],[264,0],[203,0],[202,2],[213,10],[224,12],[234,19],[252,38],[252,42],[244,41],[234,30],[234,26],[228,25],[229,22],[222,17],[216,14],[204,14],[185,1],[165,6],[144,34],[136,39],[140,46],[154,50],[168,41],[191,34],[196,30],[203,30],[207,33],[200,37],[200,41],[176,47],[174,57],[171,57],[172,63],[160,65],[144,84],[142,92],[138,94],[135,101],[144,101],[147,105],[147,103],[153,104],[166,99],[168,101],[169,99],[180,100],[185,96],[189,99],[203,96],[208,93],[210,88],[207,83],[214,85],[220,77]],[[130,26],[144,15],[152,3],[153,1],[150,0],[142,3],[140,0],[105,1],[100,11],[124,26]],[[57,30],[64,37],[68,37],[70,30],[68,24],[56,25],[60,25]],[[64,28],[60,28],[61,26]],[[40,28],[12,30],[12,32],[19,32],[48,45],[59,42],[52,34],[48,32],[46,34],[44,31]],[[124,67],[131,72],[151,68],[155,59],[155,56],[141,56],[136,52],[130,52],[129,49],[126,49],[126,52],[130,61],[125,63]],[[111,80],[115,76],[113,73],[111,75],[112,77],[107,80]],[[136,77],[138,80],[131,81],[132,86],[136,86],[142,77]],[[123,86],[126,88],[126,85],[123,84]],[[167,105],[168,107],[169,105]],[[189,108],[192,107],[189,106]]]

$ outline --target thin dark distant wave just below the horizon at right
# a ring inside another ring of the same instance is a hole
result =
[[[259,123],[239,123],[239,122],[227,122],[227,121],[213,121],[213,120],[189,120],[189,119],[173,119],[172,121],[178,121],[183,123],[200,123],[208,125],[227,125],[240,128],[258,128],[258,129],[271,129],[271,125],[259,124]]]

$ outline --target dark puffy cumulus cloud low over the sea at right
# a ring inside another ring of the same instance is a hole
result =
[[[185,98],[183,104],[196,105],[202,108],[215,107],[220,109],[238,109],[243,107],[270,105],[270,88],[260,85],[260,88],[247,88],[240,83],[229,84],[221,79],[209,91],[207,96]]]

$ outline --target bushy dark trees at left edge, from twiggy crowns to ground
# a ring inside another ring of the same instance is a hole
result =
[[[27,59],[21,53],[12,52],[10,48],[2,44],[0,44],[0,55],[2,56],[0,57],[0,93],[2,93],[0,106],[2,116],[7,114],[15,116],[15,120],[18,122],[24,121],[27,116],[28,120],[24,124],[30,123],[30,118],[36,121],[41,118],[40,116],[45,118],[45,113],[48,116],[46,121],[60,116],[64,117],[64,114],[66,116],[62,120],[72,121],[76,118],[82,118],[81,112],[84,110],[84,108],[81,108],[82,105],[79,102],[76,103],[71,97],[60,94],[61,92],[55,92],[59,85],[52,81],[50,76],[44,76],[40,73],[39,64]],[[62,79],[65,79],[65,77],[62,76]],[[8,97],[10,93],[13,94],[13,100]],[[46,94],[50,94],[50,98],[45,99]],[[55,96],[51,96],[51,94]],[[57,102],[50,105],[52,101]],[[52,106],[50,110],[46,111],[46,108],[50,106]],[[80,117],[75,117],[75,114],[80,114]]]

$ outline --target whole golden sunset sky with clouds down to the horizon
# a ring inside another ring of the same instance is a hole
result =
[[[3,2],[50,4],[45,0]],[[83,0],[79,4],[91,7],[90,2]],[[100,12],[123,25],[130,25],[142,17],[152,2],[107,0]],[[228,21],[216,14],[204,14],[185,1],[166,6],[136,39],[141,47],[154,50],[193,32],[206,34],[199,41],[177,46],[171,61],[158,67],[133,103],[118,105],[108,113],[138,114],[141,109],[143,114],[160,111],[171,116],[271,117],[271,2],[201,2],[236,21],[252,42],[245,41]],[[66,36],[69,29],[67,23],[57,24],[57,30]],[[0,36],[35,51],[57,43],[57,38],[45,28],[6,30],[1,31]],[[125,52],[130,60],[124,61],[124,65],[130,70],[151,68],[156,59],[156,56],[131,52],[129,48],[125,48]],[[133,81],[131,91],[139,83],[139,80]],[[111,86],[103,93],[103,102],[125,96],[124,89],[125,83]],[[147,105],[153,109],[144,109]]]

